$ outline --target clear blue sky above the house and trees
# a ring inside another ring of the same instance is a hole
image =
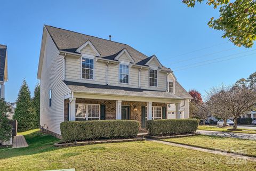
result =
[[[112,35],[112,40],[148,56],[156,54],[187,91],[196,88],[205,95],[213,86],[233,84],[256,71],[256,51],[236,48],[221,38],[221,31],[209,28],[207,22],[218,14],[204,3],[188,8],[167,0],[3,1],[0,44],[8,47],[6,100],[17,99],[23,78],[33,95],[44,24],[106,39]],[[230,58],[236,59],[213,63]],[[205,63],[212,64],[191,68]]]

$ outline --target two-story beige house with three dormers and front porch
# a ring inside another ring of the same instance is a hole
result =
[[[129,45],[44,26],[37,78],[41,85],[40,124],[60,135],[65,120],[189,117],[191,96],[171,69]],[[149,113],[149,115],[147,115]]]

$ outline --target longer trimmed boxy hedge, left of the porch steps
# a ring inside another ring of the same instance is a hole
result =
[[[64,141],[100,140],[136,137],[136,120],[64,121],[60,124]]]

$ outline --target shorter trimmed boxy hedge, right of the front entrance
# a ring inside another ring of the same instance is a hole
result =
[[[177,135],[195,132],[197,119],[157,119],[147,120],[146,129],[149,135]]]

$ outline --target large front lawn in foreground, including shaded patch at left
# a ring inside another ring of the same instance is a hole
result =
[[[23,149],[0,150],[0,170],[255,170],[251,161],[234,162],[211,153],[150,142],[94,144],[55,148],[58,140],[37,131],[25,134]]]

